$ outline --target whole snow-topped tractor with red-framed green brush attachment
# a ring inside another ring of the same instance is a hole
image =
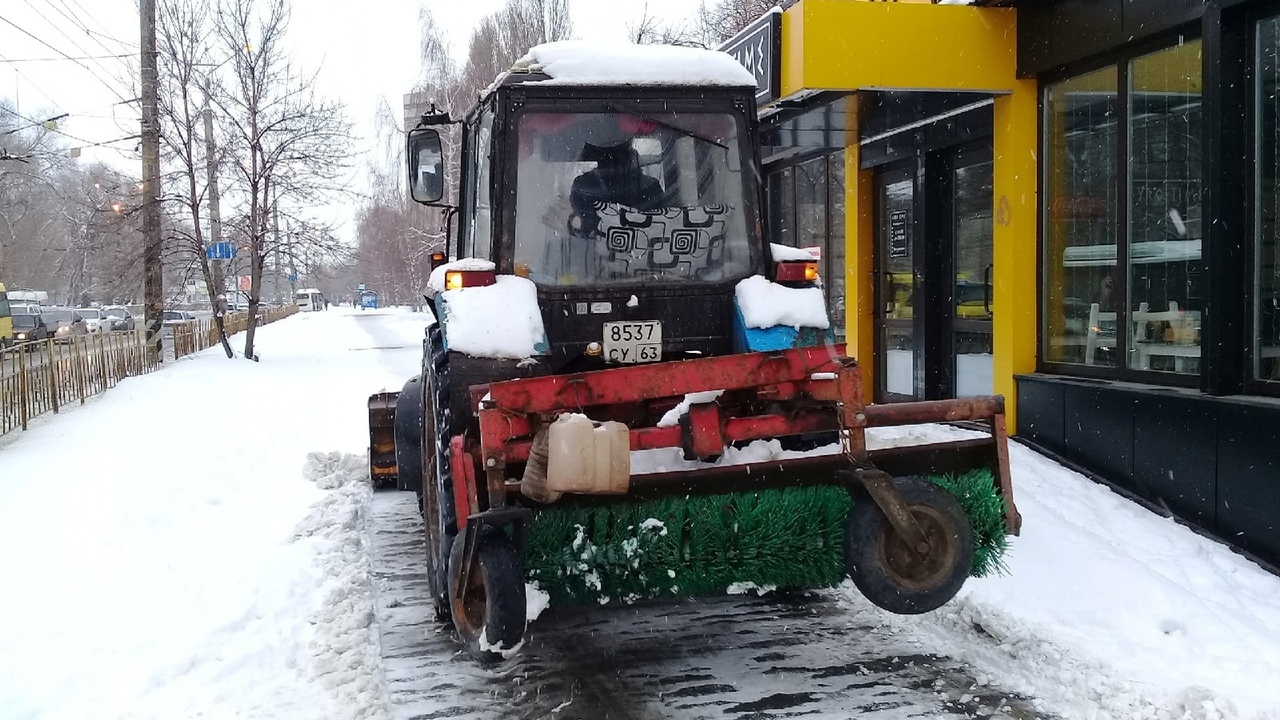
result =
[[[454,260],[421,374],[370,398],[370,466],[419,493],[436,615],[481,659],[520,647],[526,583],[634,602],[847,577],[925,612],[1019,529],[1001,397],[864,404],[817,264],[763,237],[754,94],[721,53],[550,44],[408,133]],[[984,432],[868,450],[940,421]]]

